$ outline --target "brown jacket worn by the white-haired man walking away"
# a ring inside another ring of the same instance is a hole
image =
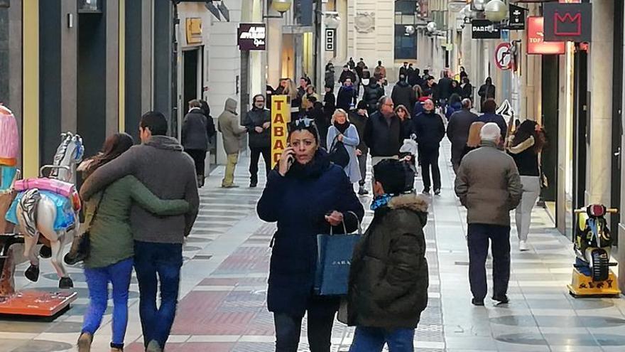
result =
[[[467,223],[510,226],[510,210],[521,201],[523,185],[511,156],[484,141],[462,158],[455,190],[467,208]]]

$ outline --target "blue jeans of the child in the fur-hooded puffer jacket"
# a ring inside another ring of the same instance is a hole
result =
[[[389,352],[414,352],[415,329],[367,328],[357,326],[349,352],[379,352],[388,345]]]

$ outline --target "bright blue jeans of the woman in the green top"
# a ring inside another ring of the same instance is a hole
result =
[[[132,276],[132,258],[122,260],[108,267],[87,268],[85,278],[89,287],[89,308],[82,323],[82,332],[95,334],[102,316],[107,310],[109,282],[113,284],[113,338],[114,345],[124,345],[128,325],[128,290]]]

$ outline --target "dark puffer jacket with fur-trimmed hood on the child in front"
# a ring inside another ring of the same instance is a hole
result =
[[[428,306],[423,227],[428,202],[413,194],[378,208],[354,250],[349,272],[350,326],[415,329]]]

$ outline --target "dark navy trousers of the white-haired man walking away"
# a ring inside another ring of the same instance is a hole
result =
[[[510,227],[501,225],[469,224],[469,283],[475,299],[487,294],[486,257],[489,240],[493,255],[493,295],[508,292],[510,279]]]

